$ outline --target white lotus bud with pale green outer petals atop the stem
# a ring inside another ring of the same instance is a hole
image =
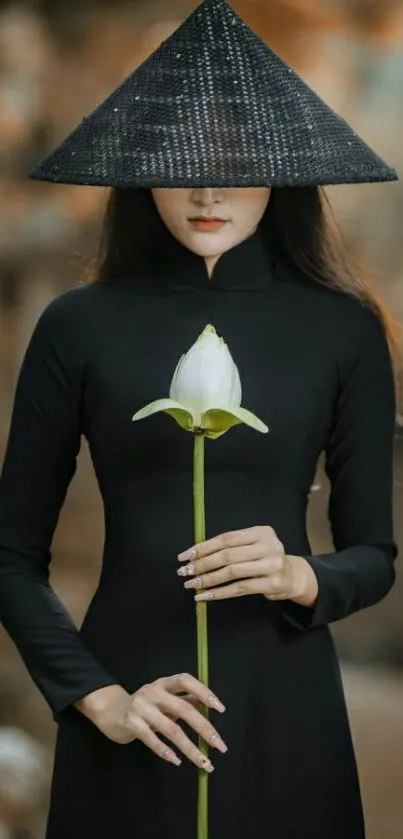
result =
[[[267,433],[258,417],[241,408],[239,372],[229,349],[214,326],[206,326],[175,370],[169,399],[158,399],[138,411],[133,420],[170,414],[186,431],[216,438],[240,423]]]

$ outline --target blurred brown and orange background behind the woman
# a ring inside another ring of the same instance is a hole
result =
[[[100,188],[34,183],[28,172],[196,5],[195,0],[0,2],[0,457],[35,321],[51,298],[85,281],[107,197]],[[234,0],[233,5],[403,175],[402,0]],[[403,324],[403,184],[336,187],[328,194],[359,259]],[[400,546],[402,413],[400,405],[395,469]],[[327,495],[319,464],[309,509],[318,551],[332,549]],[[84,445],[53,562],[53,584],[77,622],[97,585],[102,541],[102,508]],[[402,597],[400,575],[382,604],[334,627],[368,839],[403,836]],[[0,839],[43,839],[54,737],[43,699],[0,630]]]

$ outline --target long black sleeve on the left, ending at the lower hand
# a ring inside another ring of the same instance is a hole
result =
[[[0,619],[55,718],[116,683],[49,585],[51,542],[80,448],[83,365],[72,303],[74,292],[62,295],[34,330],[0,481]]]

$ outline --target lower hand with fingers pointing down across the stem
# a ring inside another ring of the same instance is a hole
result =
[[[221,713],[225,711],[209,688],[194,676],[181,673],[143,685],[133,695],[118,685],[101,688],[77,702],[76,707],[115,743],[142,740],[158,757],[179,766],[181,760],[160,740],[158,735],[162,734],[192,763],[212,772],[211,762],[177,724],[177,720],[183,720],[206,743],[226,752],[227,747],[214,726],[197,709],[199,703]]]

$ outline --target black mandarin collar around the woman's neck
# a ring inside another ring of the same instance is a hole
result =
[[[154,256],[152,273],[166,293],[269,291],[274,281],[274,257],[260,230],[226,251],[210,278],[204,258],[169,235],[163,253]]]

